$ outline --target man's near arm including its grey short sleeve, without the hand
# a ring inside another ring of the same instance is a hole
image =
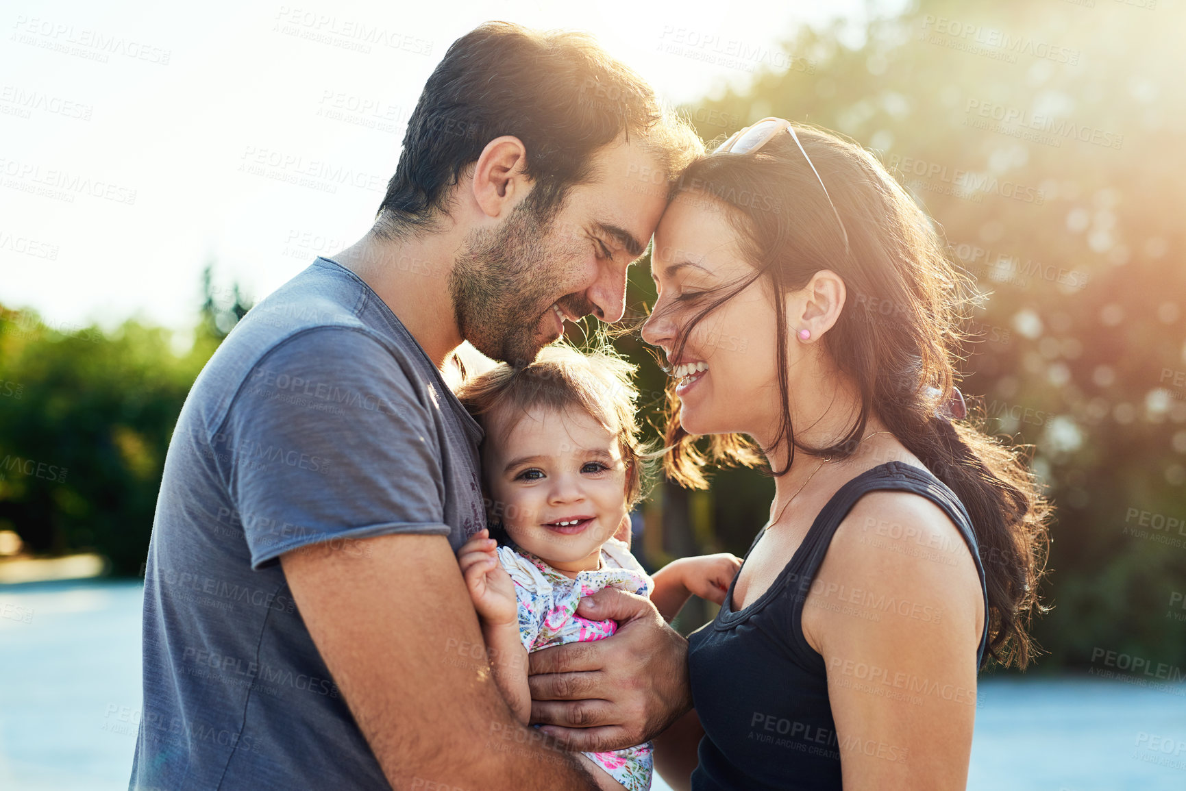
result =
[[[351,327],[302,331],[268,350],[249,381],[280,376],[394,404],[317,412],[253,384],[223,417],[225,454],[213,457],[234,461],[253,563],[279,559],[388,783],[595,790],[576,759],[516,721],[485,662],[454,648],[480,645],[482,631],[447,537],[441,451],[425,439],[433,408],[388,345]],[[300,463],[247,449],[261,447]]]

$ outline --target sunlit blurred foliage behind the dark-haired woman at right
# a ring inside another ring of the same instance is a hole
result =
[[[962,389],[986,430],[1035,446],[1057,505],[1039,669],[1088,666],[1096,648],[1186,665],[1169,613],[1186,527],[1167,527],[1186,521],[1184,12],[924,0],[861,30],[802,28],[789,69],[682,108],[709,141],[774,115],[874,151],[987,294]],[[646,267],[632,304],[653,300]],[[643,379],[653,415],[661,375]],[[755,478],[718,474],[703,549],[750,546],[772,493]]]

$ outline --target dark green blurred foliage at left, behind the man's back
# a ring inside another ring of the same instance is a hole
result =
[[[0,307],[0,530],[26,551],[96,550],[116,574],[140,570],[181,403],[249,307],[237,289],[212,293],[209,268],[203,285],[183,355],[168,331],[136,321],[104,334]]]

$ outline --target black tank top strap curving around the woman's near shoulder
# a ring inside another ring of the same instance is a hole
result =
[[[948,518],[959,530],[968,550],[971,553],[973,562],[976,564],[976,574],[980,578],[981,594],[984,601],[984,629],[981,633],[980,645],[976,649],[976,666],[984,664],[984,650],[988,644],[988,587],[984,581],[984,566],[980,559],[980,548],[976,542],[976,534],[973,530],[971,518],[968,510],[951,489],[936,478],[929,470],[916,467],[905,461],[887,461],[886,464],[871,467],[856,476],[831,496],[828,503],[820,511],[806,536],[803,546],[795,553],[791,562],[784,569],[786,579],[797,580],[796,589],[799,595],[790,598],[791,607],[791,631],[795,636],[795,644],[804,652],[803,658],[810,658],[812,663],[822,662],[820,655],[806,642],[803,634],[803,602],[806,599],[806,591],[815,580],[815,575],[823,563],[828,546],[840,523],[844,521],[861,497],[873,491],[907,491],[919,495],[931,500],[948,515]],[[752,548],[751,548],[752,549]]]

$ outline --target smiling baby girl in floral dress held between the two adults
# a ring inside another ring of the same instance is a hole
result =
[[[729,554],[684,557],[651,578],[631,555],[629,513],[649,455],[632,372],[607,353],[548,346],[527,368],[499,364],[458,393],[486,432],[482,466],[493,504],[489,535],[463,546],[458,562],[496,683],[524,725],[528,652],[617,629],[578,617],[581,597],[621,588],[650,597],[670,621],[691,594],[720,604],[741,564]],[[581,758],[602,789],[650,789],[650,744]]]

